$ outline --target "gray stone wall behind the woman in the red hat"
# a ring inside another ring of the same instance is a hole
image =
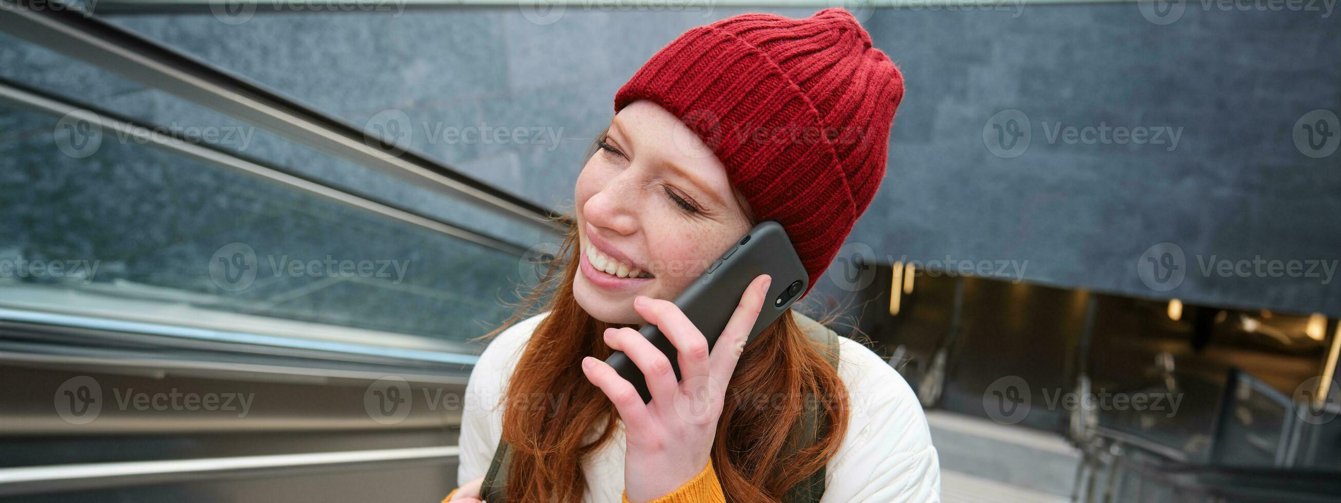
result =
[[[1152,23],[1134,4],[858,12],[876,47],[904,71],[907,97],[885,182],[850,241],[886,260],[951,268],[970,260],[979,272],[1063,287],[1341,315],[1341,286],[1326,272],[1341,259],[1341,153],[1313,158],[1320,152],[1295,144],[1307,113],[1341,113],[1337,17],[1184,7],[1169,24]],[[794,17],[814,11],[772,9]],[[208,12],[109,19],[357,126],[404,111],[413,149],[566,209],[582,152],[609,121],[618,86],[680,32],[739,12],[570,7],[538,17],[519,8],[439,8],[257,12],[240,24]],[[7,78],[146,122],[233,123],[4,42]],[[4,138],[31,129],[3,117]],[[528,138],[445,138],[452,127],[523,129]],[[1094,137],[1086,127],[1143,130],[1163,142]],[[1010,142],[1008,133],[1026,130],[1027,148],[1023,137]],[[223,148],[448,219],[484,219],[266,131],[245,148]],[[0,192],[16,190],[7,184]],[[135,190],[90,197],[143,197]],[[502,223],[487,228],[542,239]],[[1266,274],[1252,264],[1246,278],[1219,268],[1258,258]],[[1299,262],[1298,278],[1273,278],[1273,260]],[[827,282],[819,288],[845,294]]]

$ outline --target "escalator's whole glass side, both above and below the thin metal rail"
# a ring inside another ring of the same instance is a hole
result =
[[[520,248],[557,240],[3,34],[0,60],[0,78],[190,144]],[[496,326],[532,275],[511,254],[16,106],[0,101],[0,307],[443,349]]]

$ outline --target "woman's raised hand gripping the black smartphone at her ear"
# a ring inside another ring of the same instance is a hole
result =
[[[605,342],[642,370],[652,393],[648,404],[614,368],[597,358],[582,359],[587,380],[614,402],[624,420],[624,484],[630,502],[665,496],[708,465],[727,384],[771,282],[768,275],[760,275],[750,283],[711,354],[708,339],[676,304],[637,296],[633,309],[675,345],[681,381],[676,382],[666,355],[637,330],[606,330]]]

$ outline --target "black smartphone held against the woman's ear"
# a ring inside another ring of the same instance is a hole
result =
[[[752,341],[810,286],[810,276],[801,264],[797,249],[791,247],[791,239],[776,221],[764,221],[750,229],[672,302],[699,327],[711,349],[716,346],[717,337],[740,304],[740,295],[744,295],[746,287],[762,274],[770,275],[772,283],[768,286],[768,295],[764,296],[763,309],[759,310],[759,319],[750,330]],[[670,359],[670,368],[675,369],[679,381],[680,359],[670,339],[652,323],[644,325],[638,333]],[[652,401],[642,370],[624,351],[614,351],[605,362],[633,384],[644,404]]]

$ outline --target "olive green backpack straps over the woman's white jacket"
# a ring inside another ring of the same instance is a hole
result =
[[[797,323],[806,331],[811,342],[825,349],[821,351],[829,365],[838,370],[838,334],[819,322],[810,319],[801,313],[793,311]],[[801,427],[793,431],[787,443],[789,452],[795,452],[811,445],[815,437],[823,435],[829,425],[819,421],[819,400],[814,396],[806,397],[806,412],[801,418]],[[507,472],[512,461],[512,445],[499,439],[499,447],[493,451],[493,460],[489,471],[484,473],[484,483],[480,486],[480,495],[488,503],[507,503]],[[794,486],[783,495],[783,503],[817,503],[825,494],[825,475],[827,469],[819,471]]]

